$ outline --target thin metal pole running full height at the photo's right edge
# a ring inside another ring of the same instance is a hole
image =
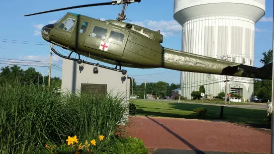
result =
[[[273,18],[274,18],[274,1],[273,2]],[[273,44],[272,51],[274,50],[274,20],[273,20]],[[272,54],[272,61],[274,60],[274,54]],[[274,65],[272,65],[272,107],[274,108]],[[274,114],[271,115],[271,154],[274,154]]]

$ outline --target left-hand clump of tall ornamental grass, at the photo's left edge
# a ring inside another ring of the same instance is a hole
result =
[[[49,88],[0,85],[0,154],[33,153],[71,134],[70,106]]]

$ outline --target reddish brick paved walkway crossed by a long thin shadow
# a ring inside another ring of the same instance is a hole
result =
[[[126,131],[148,148],[270,153],[271,135],[225,122],[130,117]]]

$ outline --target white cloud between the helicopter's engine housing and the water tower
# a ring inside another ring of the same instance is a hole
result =
[[[144,20],[144,21],[134,21],[130,22],[154,31],[161,31],[163,37],[176,36],[182,32],[182,26],[175,20],[170,21],[153,21],[153,20]]]

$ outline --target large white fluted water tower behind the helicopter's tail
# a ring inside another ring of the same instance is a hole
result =
[[[265,15],[265,5],[265,0],[174,0],[174,19],[183,27],[182,51],[254,66],[255,23]],[[217,96],[225,91],[225,78],[182,72],[182,95],[191,99],[191,92],[204,85],[206,94]],[[241,94],[242,101],[252,97],[252,78],[228,79],[228,93]]]

